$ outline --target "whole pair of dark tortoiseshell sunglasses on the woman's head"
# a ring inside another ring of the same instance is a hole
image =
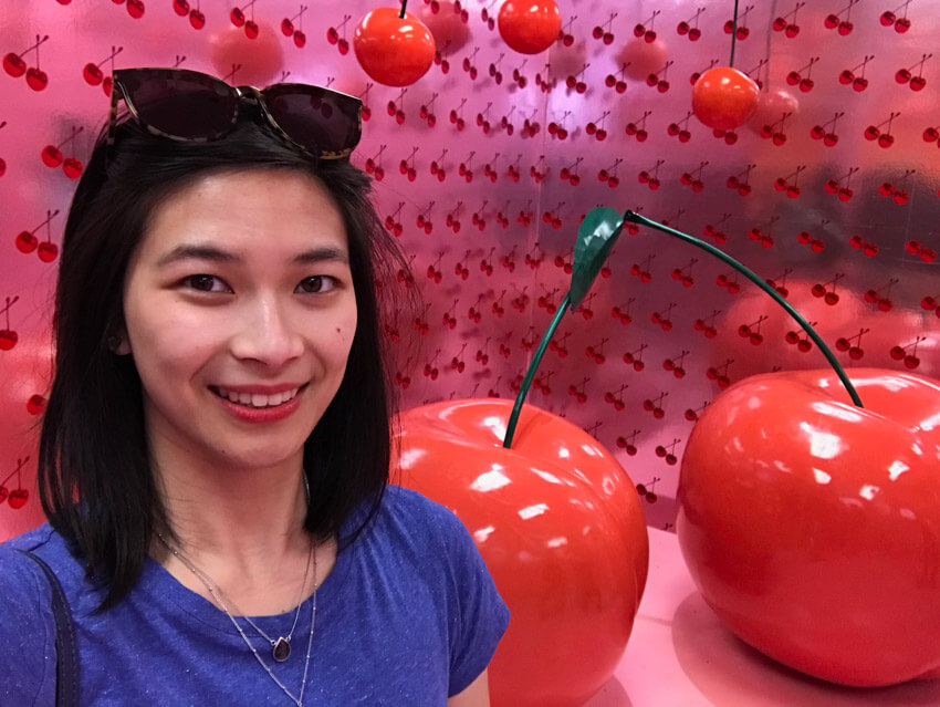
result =
[[[114,145],[117,101],[154,135],[179,142],[224,137],[238,122],[242,101],[257,104],[281,137],[318,159],[349,156],[362,136],[362,101],[323,86],[275,83],[267,89],[231,86],[187,69],[116,69],[107,145]]]

